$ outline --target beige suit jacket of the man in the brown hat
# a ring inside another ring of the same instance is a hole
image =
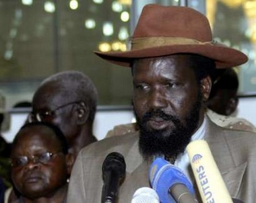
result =
[[[113,136],[82,149],[71,173],[67,203],[101,202],[102,162],[113,151],[121,153],[127,165],[125,181],[119,189],[117,202],[129,203],[138,188],[150,187],[149,164],[139,154],[138,138],[137,133]],[[256,134],[221,128],[207,118],[205,140],[210,145],[232,198],[254,203]]]

